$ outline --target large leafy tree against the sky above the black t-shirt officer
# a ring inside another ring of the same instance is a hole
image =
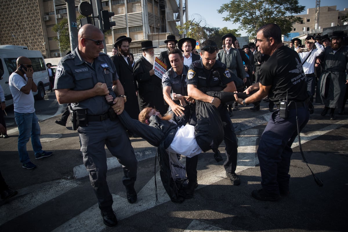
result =
[[[276,23],[284,35],[288,35],[295,22],[301,22],[301,17],[294,16],[304,10],[298,0],[234,0],[224,3],[217,12],[228,15],[224,21],[240,23],[239,29],[256,37],[256,31],[268,23]]]

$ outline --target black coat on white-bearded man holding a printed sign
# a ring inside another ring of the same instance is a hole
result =
[[[162,79],[155,74],[150,76],[153,65],[143,56],[135,62],[134,75],[138,82],[139,108],[142,111],[146,107],[155,107],[162,115],[167,113],[168,106],[164,104]]]

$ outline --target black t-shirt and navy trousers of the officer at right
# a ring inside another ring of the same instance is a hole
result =
[[[286,194],[289,190],[291,145],[297,136],[296,116],[300,131],[309,120],[307,85],[300,57],[296,51],[282,46],[261,66],[260,83],[271,86],[270,101],[288,99],[288,117],[281,118],[279,110],[272,113],[264,129],[258,158],[261,170],[261,185],[269,197]]]

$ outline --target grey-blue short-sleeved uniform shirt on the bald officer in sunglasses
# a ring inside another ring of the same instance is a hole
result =
[[[118,80],[116,68],[108,55],[100,53],[92,64],[84,61],[76,48],[66,55],[57,66],[54,82],[55,89],[87,90],[96,83],[106,83],[110,95],[116,97],[112,90],[113,81]],[[108,112],[110,105],[105,96],[95,96],[83,101],[72,103],[72,108],[87,109],[89,115],[100,115]]]

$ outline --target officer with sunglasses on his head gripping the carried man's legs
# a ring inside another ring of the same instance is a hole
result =
[[[237,137],[227,107],[219,98],[214,98],[206,94],[207,91],[236,91],[236,86],[231,78],[231,73],[226,65],[216,61],[217,45],[212,40],[206,40],[201,45],[201,60],[193,62],[187,74],[188,95],[196,100],[212,103],[220,112],[221,120],[224,124],[224,142],[226,144],[225,153],[227,160],[223,166],[226,175],[231,179],[233,185],[239,185],[240,179],[236,174],[237,168]]]

